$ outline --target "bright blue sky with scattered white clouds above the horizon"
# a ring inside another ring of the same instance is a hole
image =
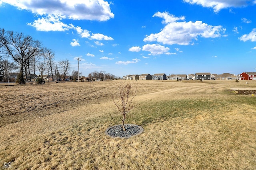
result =
[[[256,68],[256,0],[0,0],[0,28],[31,35],[87,76]]]

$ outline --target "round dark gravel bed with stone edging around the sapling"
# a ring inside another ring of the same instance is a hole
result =
[[[129,138],[135,135],[139,135],[143,132],[143,128],[134,124],[124,124],[126,131],[124,131],[122,125],[115,125],[109,127],[105,134],[110,137],[121,137],[121,138]]]

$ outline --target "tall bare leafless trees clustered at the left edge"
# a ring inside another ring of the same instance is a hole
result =
[[[38,71],[42,78],[47,69],[54,81],[60,75],[65,78],[70,62],[67,59],[54,61],[54,52],[30,35],[0,28],[0,76],[6,81],[8,74],[18,69],[21,84],[25,84],[24,75],[31,81],[32,74]]]

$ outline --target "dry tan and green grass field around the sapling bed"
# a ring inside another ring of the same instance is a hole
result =
[[[111,94],[138,86],[129,139],[104,131],[121,123]],[[0,84],[0,169],[256,169],[256,81],[114,80]]]

